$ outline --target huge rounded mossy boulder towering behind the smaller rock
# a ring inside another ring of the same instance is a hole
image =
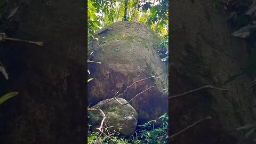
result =
[[[162,90],[168,87],[168,78],[164,73],[166,66],[155,51],[161,42],[158,35],[137,22],[116,22],[97,34],[98,39],[92,38],[89,48],[93,51],[92,60],[102,64],[89,63],[89,77],[94,79],[88,84],[88,103],[95,105],[112,98],[123,83],[125,88],[140,79],[158,76],[134,84],[122,98],[130,100],[155,86],[131,102],[138,112],[138,124],[167,113],[168,98]],[[160,123],[157,121],[156,125]]]

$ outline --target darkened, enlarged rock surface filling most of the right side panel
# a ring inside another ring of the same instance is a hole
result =
[[[246,95],[252,79],[241,76],[249,54],[243,40],[231,36],[225,17],[209,1],[169,1],[170,70],[169,94],[175,95],[204,85],[227,88],[230,92],[201,90],[169,101],[169,132],[174,134],[199,119],[213,119],[195,126],[172,143],[248,143],[239,126],[255,123],[254,113],[239,109],[255,102]],[[171,141],[171,140],[170,140]],[[252,142],[252,141],[250,141]]]

